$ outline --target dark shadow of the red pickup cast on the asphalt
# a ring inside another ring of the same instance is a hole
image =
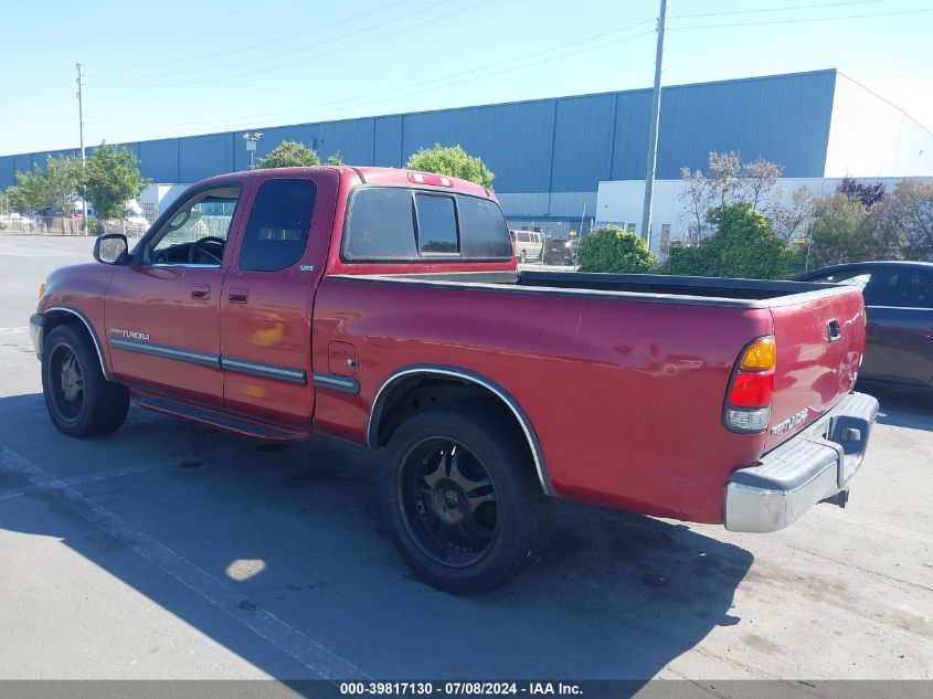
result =
[[[683,525],[570,504],[529,573],[478,597],[438,592],[385,536],[375,498],[379,454],[333,439],[257,449],[136,409],[113,435],[68,439],[51,426],[40,395],[21,395],[0,399],[0,445],[71,478],[86,499],[61,487],[22,491],[29,483],[0,462],[0,528],[60,539],[286,681],[314,672],[248,631],[244,621],[259,610],[384,679],[645,680],[715,627],[741,623],[733,595],[752,564],[748,551]],[[159,459],[161,466],[140,473],[87,476]],[[129,533],[113,536],[99,517],[82,513],[83,502],[105,508]],[[132,532],[145,537],[134,541]],[[139,555],[152,540],[242,603],[219,608]],[[42,595],[106,604],[95,600],[94,578],[84,583],[63,592],[50,581],[40,593],[23,593],[22,603],[36,604],[35,615],[43,614]],[[140,624],[140,636],[149,633],[145,615],[125,616]],[[67,638],[63,626],[49,643]],[[106,635],[97,638],[92,643],[106,645]]]

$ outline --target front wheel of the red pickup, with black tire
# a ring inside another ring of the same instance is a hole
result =
[[[54,328],[42,346],[42,393],[60,432],[89,437],[123,425],[129,391],[104,378],[87,333],[74,324]]]

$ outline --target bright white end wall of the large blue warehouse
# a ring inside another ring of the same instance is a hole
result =
[[[933,133],[883,97],[836,74],[826,177],[933,176]]]

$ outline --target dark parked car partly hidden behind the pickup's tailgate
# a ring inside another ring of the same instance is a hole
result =
[[[861,287],[868,309],[861,380],[933,389],[933,263],[850,263],[797,279]]]

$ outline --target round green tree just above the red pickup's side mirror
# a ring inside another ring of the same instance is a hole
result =
[[[102,142],[87,158],[87,201],[100,220],[121,219],[126,202],[138,197],[149,181],[139,171],[136,153],[128,148]]]

